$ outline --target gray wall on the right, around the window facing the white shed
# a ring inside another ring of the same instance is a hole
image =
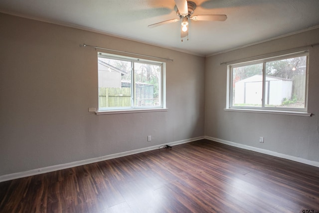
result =
[[[227,66],[221,62],[319,43],[319,29],[206,58],[205,136],[319,162],[319,45],[310,48],[308,111],[312,117],[224,111]],[[259,137],[265,143],[259,143]]]

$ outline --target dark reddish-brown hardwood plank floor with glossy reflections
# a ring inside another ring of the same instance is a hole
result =
[[[319,168],[208,140],[0,183],[1,213],[318,211]]]

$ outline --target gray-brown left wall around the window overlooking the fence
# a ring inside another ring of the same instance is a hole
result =
[[[0,32],[0,176],[204,135],[203,57],[2,13]],[[174,59],[168,111],[88,112],[97,52],[83,43]]]

